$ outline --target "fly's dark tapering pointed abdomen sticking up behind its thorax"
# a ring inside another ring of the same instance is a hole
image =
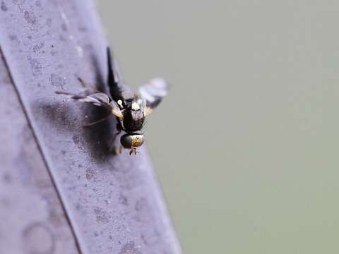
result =
[[[127,85],[124,84],[121,74],[115,61],[112,61],[112,54],[109,47],[107,47],[107,66],[108,66],[108,79],[109,93],[112,99],[117,102],[121,99],[122,102],[133,99],[134,93]]]

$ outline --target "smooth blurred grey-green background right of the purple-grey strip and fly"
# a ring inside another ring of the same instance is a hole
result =
[[[339,253],[339,1],[107,1],[184,253]]]

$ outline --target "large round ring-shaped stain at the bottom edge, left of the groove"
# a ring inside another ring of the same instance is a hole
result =
[[[52,254],[55,239],[52,231],[43,222],[35,222],[25,227],[22,233],[23,253]]]

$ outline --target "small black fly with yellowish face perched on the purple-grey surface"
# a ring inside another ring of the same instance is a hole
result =
[[[161,102],[162,98],[167,95],[169,85],[162,78],[155,78],[139,87],[138,93],[133,92],[121,80],[121,75],[112,62],[109,47],[107,47],[107,65],[109,95],[105,92],[97,91],[93,87],[88,87],[81,78],[78,78],[78,80],[85,87],[83,91],[78,94],[58,91],[57,94],[66,95],[79,102],[88,102],[107,109],[109,111],[107,116],[85,126],[100,123],[113,114],[117,117],[117,133],[114,135],[112,143],[114,143],[115,138],[117,138],[121,131],[124,131],[125,134],[120,138],[121,146],[112,146],[112,150],[119,154],[125,148],[130,150],[129,155],[133,153],[136,155],[136,148],[143,145],[145,141],[145,137],[141,133],[145,123],[145,116],[148,116]]]

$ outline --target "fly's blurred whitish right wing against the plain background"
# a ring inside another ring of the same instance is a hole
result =
[[[162,78],[150,80],[149,83],[139,88],[139,93],[146,102],[145,115],[150,114],[157,107],[162,98],[167,95],[168,90],[169,84]]]

